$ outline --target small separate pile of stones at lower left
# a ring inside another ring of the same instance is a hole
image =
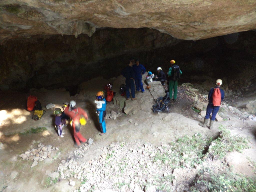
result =
[[[39,143],[37,146],[38,149],[33,148],[19,155],[23,160],[34,160],[31,168],[36,166],[38,161],[46,160],[47,162],[51,162],[52,158],[55,157],[59,151],[58,147],[52,147],[51,145]]]

